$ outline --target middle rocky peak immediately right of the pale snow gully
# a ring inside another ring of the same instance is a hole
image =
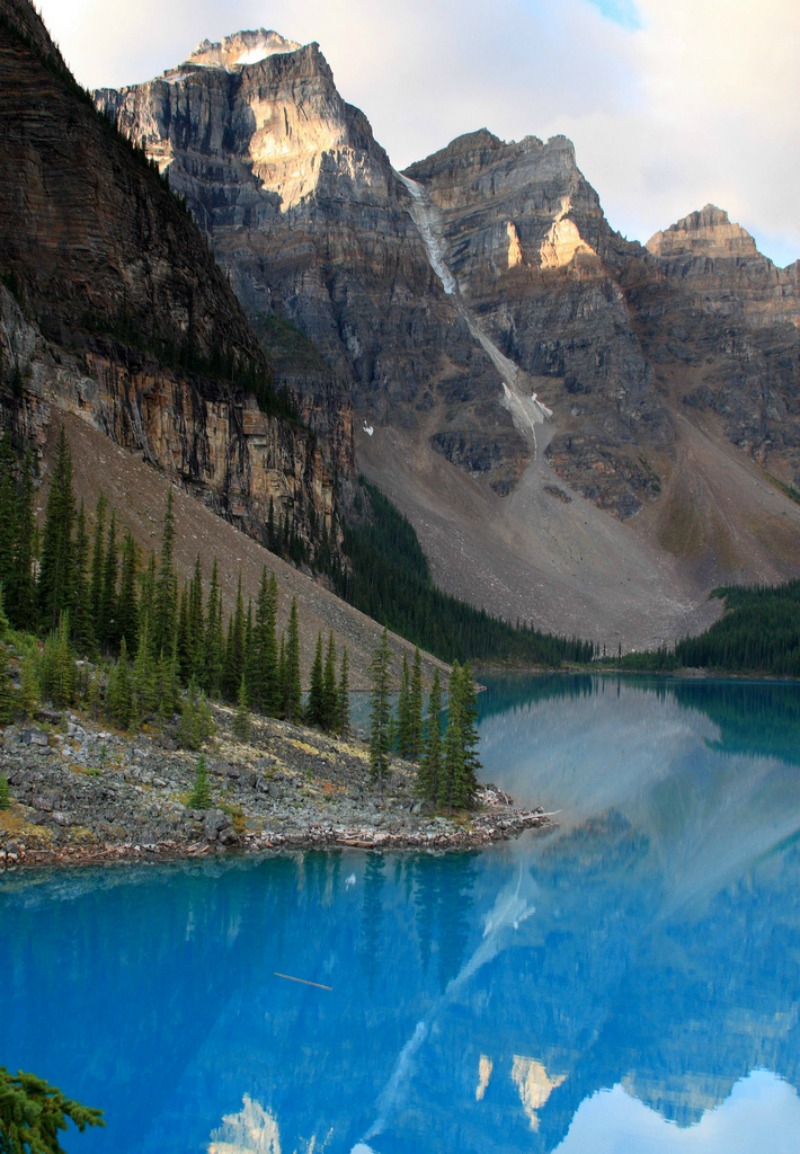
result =
[[[462,297],[553,411],[555,471],[616,516],[637,512],[659,492],[646,457],[671,450],[673,429],[620,285],[641,249],[608,227],[571,143],[484,129],[406,175],[440,210]]]

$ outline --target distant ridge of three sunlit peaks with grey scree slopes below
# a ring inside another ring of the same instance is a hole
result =
[[[566,137],[481,129],[399,174],[316,44],[262,29],[196,59],[96,99],[264,347],[290,322],[330,366],[440,584],[628,645],[696,628],[723,580],[800,571],[767,479],[800,488],[798,265],[720,210],[625,240]]]

